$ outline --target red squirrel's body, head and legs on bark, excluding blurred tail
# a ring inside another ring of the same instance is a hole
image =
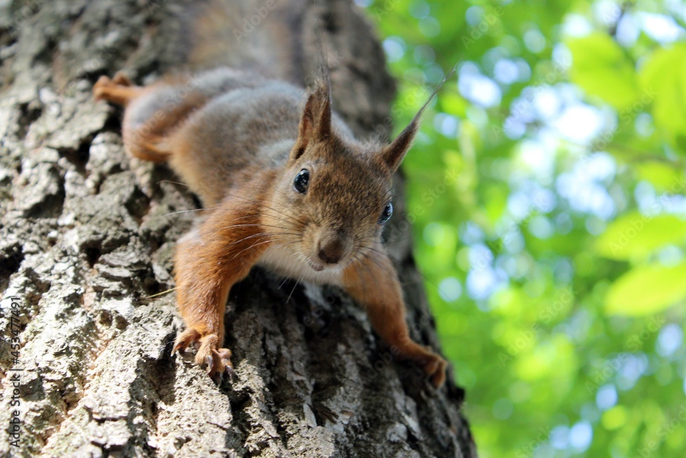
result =
[[[212,209],[179,240],[178,310],[186,329],[174,351],[198,348],[211,376],[233,371],[224,344],[230,288],[259,264],[280,275],[333,284],[366,308],[372,327],[435,387],[446,361],[412,341],[396,271],[381,244],[392,176],[421,111],[388,145],[355,139],[331,111],[328,78],[309,91],[255,73],[219,68],[132,85],[102,76],[93,94],[126,106],[130,154],[167,162]]]

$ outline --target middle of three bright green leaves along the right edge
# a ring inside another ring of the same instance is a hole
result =
[[[595,249],[610,259],[639,260],[667,244],[681,244],[684,240],[685,220],[672,215],[651,218],[631,211],[608,225],[595,242]]]

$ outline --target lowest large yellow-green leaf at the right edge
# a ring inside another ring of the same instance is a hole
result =
[[[641,317],[654,314],[686,298],[686,263],[678,266],[639,266],[608,288],[605,312]]]

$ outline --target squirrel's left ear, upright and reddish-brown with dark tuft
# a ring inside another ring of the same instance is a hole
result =
[[[303,116],[298,126],[298,141],[291,154],[292,159],[303,155],[310,141],[327,139],[331,135],[331,98],[329,85],[318,84],[305,102]]]

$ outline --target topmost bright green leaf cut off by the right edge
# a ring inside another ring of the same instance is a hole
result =
[[[642,98],[654,98],[652,116],[673,148],[686,153],[686,44],[659,49],[639,73]]]

